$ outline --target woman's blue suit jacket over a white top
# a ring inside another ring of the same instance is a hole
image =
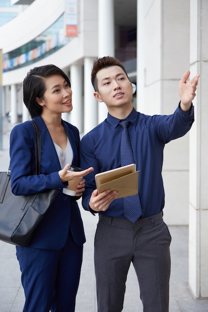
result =
[[[69,229],[77,245],[85,242],[83,223],[77,202],[62,193],[66,185],[61,182],[61,169],[52,139],[40,116],[35,117],[41,134],[41,174],[35,172],[35,137],[30,122],[15,126],[10,134],[11,188],[15,195],[25,195],[56,188],[59,194],[37,226],[30,247],[61,249],[66,242]],[[62,120],[72,150],[72,164],[79,166],[79,132]]]

